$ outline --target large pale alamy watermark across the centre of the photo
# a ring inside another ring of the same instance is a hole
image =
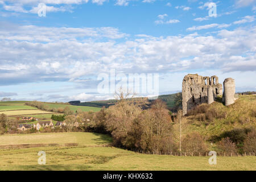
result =
[[[110,70],[110,74],[101,73],[97,80],[101,82],[97,86],[98,93],[113,94],[120,88],[130,93],[141,96],[159,95],[159,74],[158,73],[115,73],[115,69]]]

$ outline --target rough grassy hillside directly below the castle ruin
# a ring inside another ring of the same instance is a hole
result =
[[[242,143],[246,134],[256,129],[255,105],[256,95],[240,96],[229,106],[222,104],[221,98],[210,105],[199,105],[188,111],[185,131],[198,131],[205,140],[213,143],[225,137]]]

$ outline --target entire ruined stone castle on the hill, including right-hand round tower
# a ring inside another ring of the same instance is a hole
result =
[[[222,100],[225,105],[233,104],[236,98],[235,82],[233,78],[226,78],[224,81],[224,93]],[[182,83],[182,107],[183,114],[193,107],[208,103],[212,104],[218,96],[222,96],[222,85],[218,83],[217,76],[200,76],[188,74]]]

